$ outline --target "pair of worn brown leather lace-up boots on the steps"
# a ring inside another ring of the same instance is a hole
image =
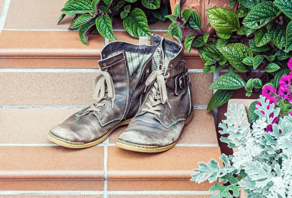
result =
[[[94,82],[95,103],[55,126],[49,140],[63,147],[87,148],[128,125],[117,147],[139,152],[172,148],[194,115],[179,39],[173,42],[152,34],[149,46],[111,42],[101,56]]]

